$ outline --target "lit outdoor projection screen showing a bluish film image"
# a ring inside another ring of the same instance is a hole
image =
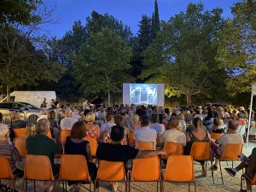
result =
[[[123,103],[164,107],[165,84],[123,84]]]

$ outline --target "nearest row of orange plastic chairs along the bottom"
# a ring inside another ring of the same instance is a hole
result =
[[[3,171],[0,173],[0,179],[14,179],[14,175],[10,170],[9,161],[0,156],[0,165]],[[42,169],[44,167],[44,169]],[[44,155],[26,155],[24,179],[26,182],[25,190],[27,191],[27,181],[34,181],[34,190],[36,188],[35,181],[54,182],[49,158]],[[67,191],[67,181],[87,182],[91,179],[88,171],[87,163],[84,155],[79,154],[63,154],[61,156],[61,169],[59,182],[62,183],[63,191]],[[164,189],[164,182],[188,182],[195,183],[193,158],[190,155],[172,155],[167,160],[166,170],[161,172],[160,159],[158,156],[133,160],[131,172],[126,174],[125,164],[123,162],[110,162],[100,160],[96,182],[125,182],[125,191],[131,191],[131,182],[156,182],[157,191]],[[94,191],[96,189],[96,184]],[[196,190],[196,185],[195,185]]]

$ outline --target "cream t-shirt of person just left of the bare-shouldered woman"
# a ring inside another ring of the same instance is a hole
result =
[[[177,130],[166,130],[161,137],[161,143],[172,142],[172,143],[183,143],[186,145],[186,135]]]

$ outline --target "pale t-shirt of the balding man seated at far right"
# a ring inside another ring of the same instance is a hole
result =
[[[218,144],[220,145],[217,148],[218,155],[221,155],[224,152],[225,144],[239,144],[243,143],[243,138],[240,133],[235,134],[224,134],[223,136],[217,139]]]

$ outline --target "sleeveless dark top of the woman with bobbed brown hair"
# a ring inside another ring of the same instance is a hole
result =
[[[81,143],[73,143],[70,137],[67,137],[65,143],[65,153],[66,154],[83,154],[87,160],[86,146],[89,142],[83,141]]]

